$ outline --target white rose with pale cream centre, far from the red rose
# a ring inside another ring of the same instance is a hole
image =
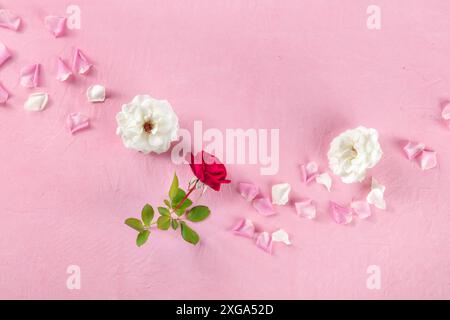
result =
[[[361,182],[366,170],[374,167],[382,154],[377,130],[358,127],[333,139],[328,161],[330,169],[344,183]]]

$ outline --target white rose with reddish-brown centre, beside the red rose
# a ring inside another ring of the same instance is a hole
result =
[[[138,95],[116,115],[117,134],[127,148],[163,153],[178,139],[178,117],[166,100]]]

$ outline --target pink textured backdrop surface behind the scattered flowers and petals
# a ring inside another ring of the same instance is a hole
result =
[[[81,8],[81,30],[53,39],[47,14]],[[366,8],[382,10],[382,28],[366,28]],[[14,57],[0,68],[11,92],[0,107],[0,298],[450,298],[449,129],[439,120],[450,98],[450,3],[423,1],[2,1],[23,18],[15,33],[0,29]],[[75,82],[54,80],[55,58],[81,48],[96,68]],[[19,69],[42,64],[50,94],[42,113],[27,113],[29,90]],[[85,89],[104,84],[104,104]],[[145,202],[158,204],[174,170],[168,156],[125,149],[115,114],[138,93],[168,99],[182,126],[280,128],[280,171],[230,166],[234,183],[203,202],[213,215],[196,226],[198,247],[179,234],[151,236],[137,248],[123,225]],[[71,136],[69,112],[93,128]],[[299,163],[326,168],[340,131],[379,130],[384,157],[372,173],[386,185],[386,212],[335,224],[327,201],[346,203],[367,185],[335,178],[329,194],[300,182]],[[439,167],[422,172],[399,147],[422,140]],[[268,194],[290,182],[293,198],[319,204],[316,221],[292,207],[258,216],[235,191],[253,181]],[[228,229],[248,217],[268,231],[285,228],[293,245],[273,256]],[[66,268],[81,267],[81,290],[66,288]],[[381,289],[366,288],[366,268],[379,265]]]

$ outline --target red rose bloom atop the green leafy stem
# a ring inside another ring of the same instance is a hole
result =
[[[230,183],[227,180],[227,169],[225,166],[212,154],[205,151],[198,153],[195,157],[191,154],[191,161],[189,163],[194,175],[208,187],[219,191],[222,183]]]

